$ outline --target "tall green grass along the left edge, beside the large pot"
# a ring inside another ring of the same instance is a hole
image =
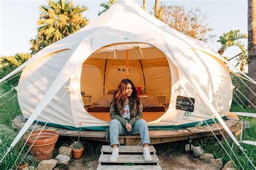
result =
[[[4,95],[13,87],[17,86],[19,77],[15,77],[8,82],[0,84],[0,96]],[[0,98],[0,139],[2,140],[2,144],[0,144],[0,159],[4,157],[4,154],[10,147],[12,141],[17,136],[17,132],[11,128],[11,121],[16,116],[21,115],[21,109],[19,109],[18,99],[17,99],[17,91],[12,90],[9,94]],[[16,96],[15,96],[16,95]],[[12,97],[14,96],[14,97]],[[11,98],[12,97],[12,98]],[[9,100],[9,98],[11,98]],[[9,101],[7,101],[9,100]],[[6,102],[7,101],[7,102]],[[16,158],[18,157],[19,152],[22,149],[24,144],[24,140],[20,140],[18,144],[16,144],[15,148],[12,148],[10,153],[6,155],[3,162],[0,164],[0,169],[10,169],[12,166],[16,168],[16,166],[22,161],[24,158],[25,152],[28,151],[27,147],[24,147],[21,155],[15,163]],[[21,162],[21,165],[25,164],[25,162],[29,162],[29,165],[36,165],[35,159],[32,155],[26,155],[24,161]],[[14,165],[15,164],[15,165]]]

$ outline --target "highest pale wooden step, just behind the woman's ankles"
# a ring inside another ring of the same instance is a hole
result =
[[[112,147],[110,145],[103,145],[100,152],[102,154],[112,153]],[[156,152],[154,146],[150,146],[150,153],[156,154]],[[119,153],[143,153],[143,146],[119,146]]]

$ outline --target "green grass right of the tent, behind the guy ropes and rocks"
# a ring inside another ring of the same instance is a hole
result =
[[[240,106],[235,105],[231,108],[232,112],[245,112],[244,109],[240,108]],[[249,109],[248,112],[256,113],[255,109]],[[244,121],[250,122],[250,128],[246,129],[242,133],[242,140],[252,140],[256,141],[256,119],[252,117],[243,117]],[[226,141],[220,141],[220,143],[224,146],[225,150],[231,155],[232,160],[238,166],[239,169],[242,169],[239,165],[238,160],[240,161],[242,167],[244,169],[253,169],[253,166],[246,158],[246,155],[242,153],[240,148],[233,143],[233,140],[228,139],[228,143],[232,146],[231,148],[227,145]],[[209,137],[206,139],[200,139],[196,141],[196,146],[201,146],[206,153],[212,153],[214,158],[223,158],[224,163],[230,161],[231,159],[228,157],[227,153],[224,151],[223,147],[221,147],[220,143],[218,143],[217,139]],[[248,145],[244,143],[240,143],[240,145],[246,150],[245,153],[251,159],[254,166],[256,165],[256,147],[253,145]],[[235,158],[235,156],[238,158]]]

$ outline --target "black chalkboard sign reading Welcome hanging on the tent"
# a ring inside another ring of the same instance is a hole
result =
[[[194,111],[194,98],[177,96],[176,109],[193,112]]]

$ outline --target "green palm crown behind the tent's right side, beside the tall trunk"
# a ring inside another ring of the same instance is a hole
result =
[[[246,55],[247,50],[245,48],[245,45],[242,44],[242,41],[241,41],[241,39],[243,38],[248,38],[247,34],[240,33],[240,30],[231,30],[228,33],[224,33],[222,36],[220,36],[220,39],[217,40],[217,42],[220,42],[221,44],[221,47],[218,51],[220,55],[223,55],[223,53],[229,47],[237,46],[240,48],[241,53],[235,56],[239,56],[239,58],[237,59],[238,61],[237,66],[240,65],[240,70],[242,72],[245,71],[245,65],[247,65],[247,60],[248,60],[248,56]],[[226,59],[228,58],[226,57]],[[231,59],[228,59],[228,60],[231,60]]]

